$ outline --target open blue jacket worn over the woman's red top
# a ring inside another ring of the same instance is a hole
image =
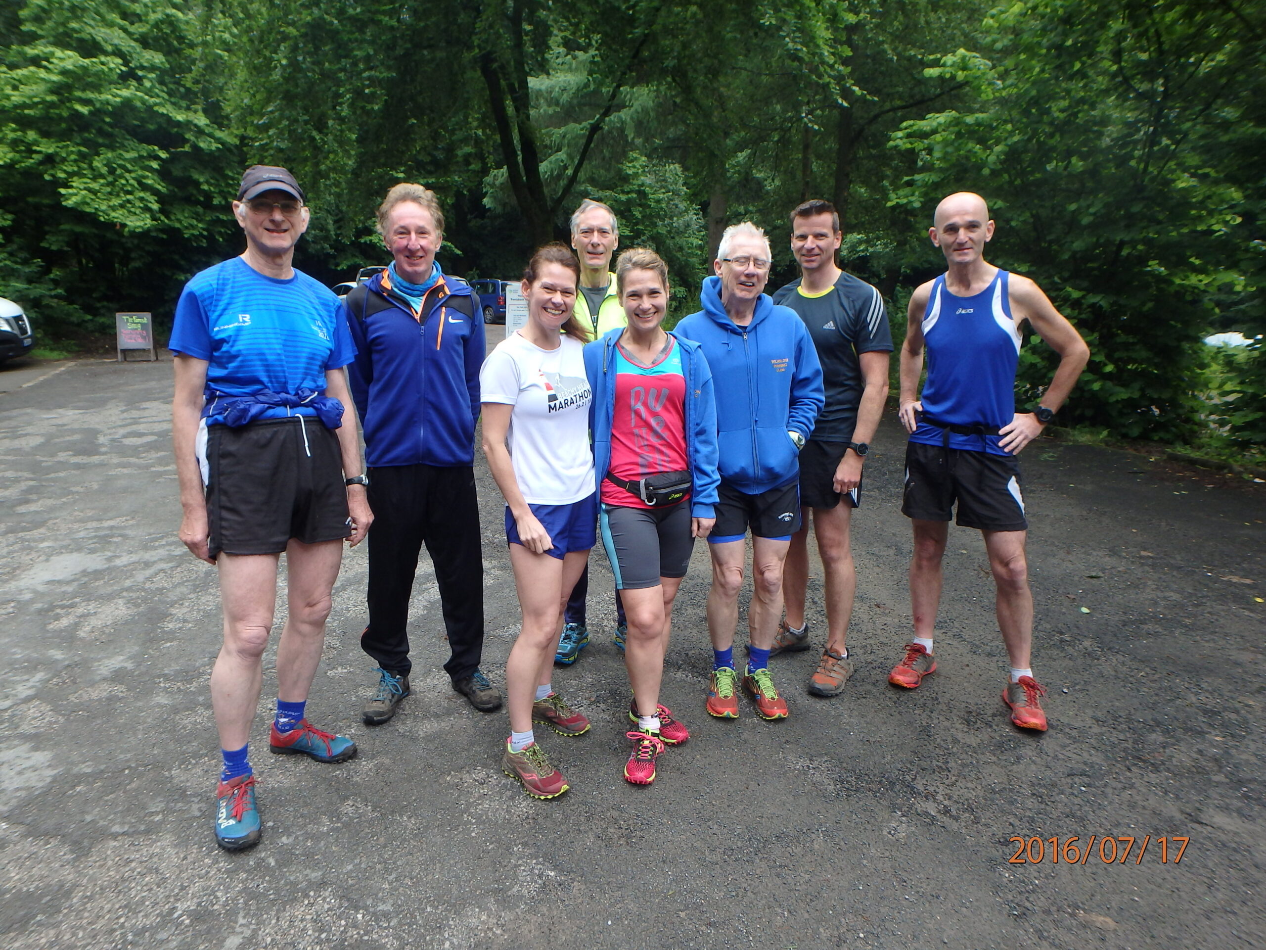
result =
[[[589,404],[589,428],[594,433],[594,474],[598,491],[611,465],[611,418],[615,415],[615,341],[624,333],[617,327],[601,339],[585,345],[585,375],[594,398]],[[715,518],[717,488],[717,400],[713,396],[711,370],[699,345],[672,333],[681,347],[681,366],[686,374],[686,455],[690,459],[690,514]]]

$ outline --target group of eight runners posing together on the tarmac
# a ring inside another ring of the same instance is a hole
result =
[[[309,209],[289,171],[248,168],[233,214],[246,251],[189,281],[170,342],[180,537],[218,566],[224,612],[211,673],[223,757],[214,827],[223,847],[251,847],[261,836],[248,740],[282,552],[287,612],[270,751],[322,763],[356,755],[351,738],[306,718],[344,542],[368,545],[361,646],[379,679],[363,721],[387,722],[410,695],[406,628],[423,545],[452,688],[482,712],[501,707],[480,669],[480,417],[523,613],[505,668],[510,735],[501,765],[529,795],[553,798],[570,787],[534,725],[563,736],[590,730],[552,680],[589,643],[587,560],[599,537],[615,579],[614,641],[632,693],[628,782],[651,784],[665,749],[690,737],[660,703],[660,687],[696,538],[706,538],[711,560],[706,712],[736,718],[746,693],[760,717],[787,717],[768,661],[810,647],[810,526],[827,631],[808,692],[843,690],[853,673],[849,523],[887,398],[893,342],[880,293],[837,263],[842,234],[829,203],[791,212],[800,277],[772,296],[765,232],[749,222],[727,228],[701,309],[668,331],[663,260],[648,248],[615,257],[615,214],[586,200],[571,218],[571,247],[552,243],[532,256],[522,282],[527,324],[486,360],[477,298],[436,261],[444,218],[428,189],[400,184],[387,193],[377,224],[391,263],[343,300],[292,266]],[[941,565],[957,505],[958,524],[979,528],[989,552],[1012,665],[1003,700],[1017,726],[1044,730],[1044,689],[1029,662],[1033,600],[1015,456],[1051,422],[1089,351],[1033,281],[985,261],[993,233],[984,199],[946,198],[929,237],[947,271],[909,304],[899,412],[909,432],[903,512],[914,529],[914,637],[889,681],[913,689],[937,669]],[[1025,320],[1060,364],[1041,402],[1017,412]],[[748,535],[747,656],[736,660]]]

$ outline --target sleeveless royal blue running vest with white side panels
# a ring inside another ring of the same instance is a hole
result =
[[[932,285],[923,315],[928,379],[923,384],[923,412],[955,426],[1001,428],[1015,418],[1015,367],[1020,334],[1012,318],[1006,271],[974,296],[956,296],[944,275]],[[942,445],[943,429],[920,422],[912,442]],[[1010,455],[998,447],[998,436],[950,433],[950,447]]]

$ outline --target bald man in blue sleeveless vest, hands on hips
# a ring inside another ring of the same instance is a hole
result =
[[[1033,593],[1015,456],[1042,434],[1063,405],[1090,350],[1037,284],[985,260],[985,244],[993,236],[994,222],[980,195],[963,191],[941,201],[928,237],[941,248],[948,269],[910,298],[901,347],[900,417],[910,433],[901,512],[914,527],[914,640],[887,679],[914,689],[937,669],[933,631],[941,602],[941,562],[957,502],[958,524],[980,529],[989,552],[998,626],[1012,662],[1003,702],[1010,707],[1013,723],[1044,731],[1041,698],[1046,689],[1033,678],[1029,657]],[[1015,369],[1024,320],[1060,355],[1060,366],[1038,404],[1018,413]],[[924,350],[929,365],[920,398]]]

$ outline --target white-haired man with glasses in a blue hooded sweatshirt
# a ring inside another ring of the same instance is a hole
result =
[[[800,527],[798,455],[824,402],[822,366],[804,322],[762,293],[770,263],[763,231],[751,222],[727,228],[713,263],[717,276],[703,285],[704,309],[676,327],[679,336],[700,345],[715,390],[724,394],[717,399],[720,500],[708,537],[713,561],[708,712],[718,718],[738,717],[734,630],[748,529],[753,584],[742,685],[758,716],[787,716],[768,659],[782,613],[782,565]]]

